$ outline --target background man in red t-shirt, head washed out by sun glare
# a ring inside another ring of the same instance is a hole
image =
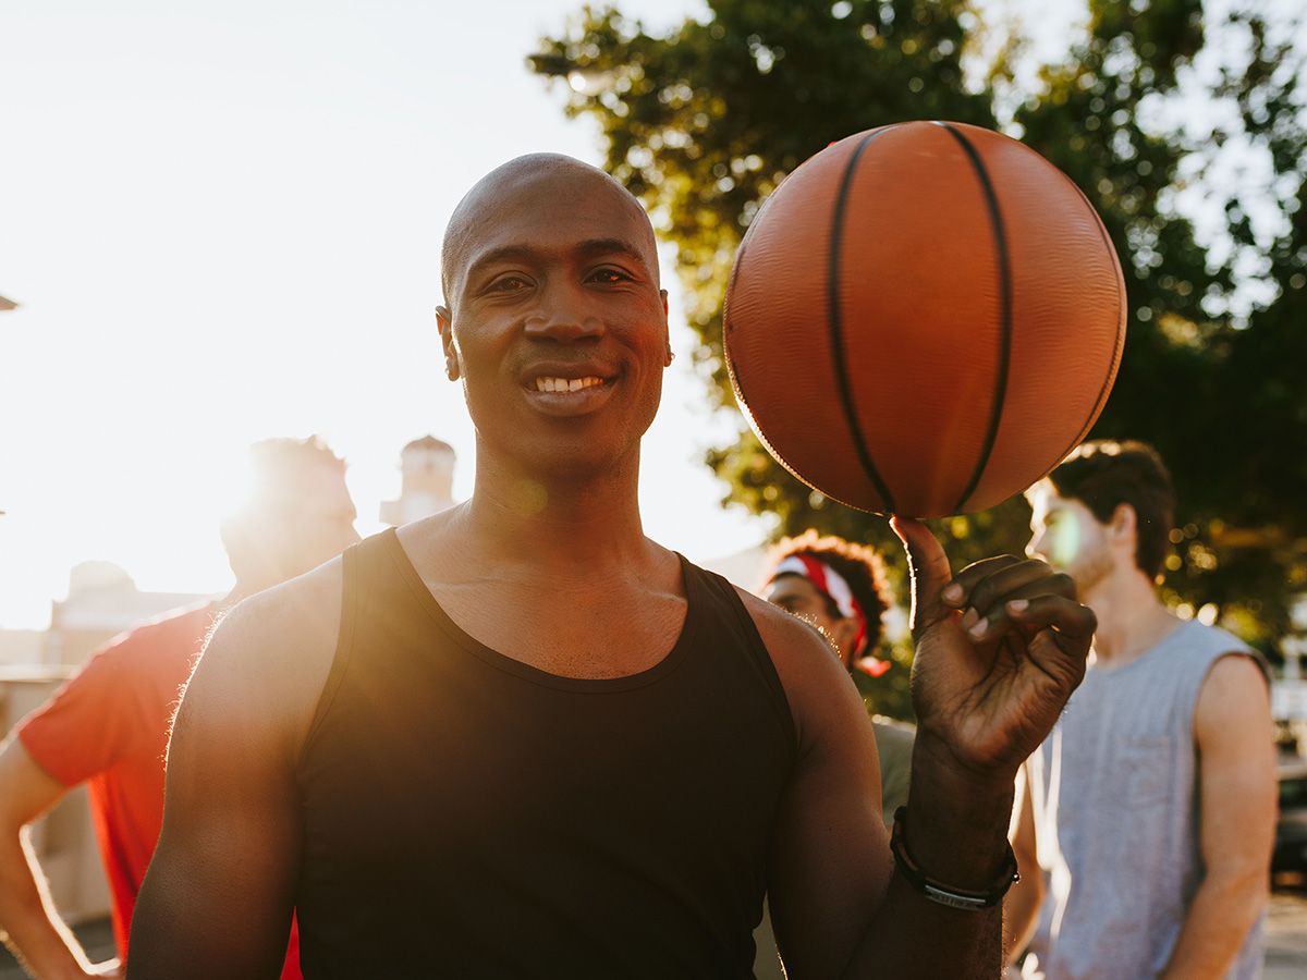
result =
[[[91,964],[43,887],[25,828],[85,783],[112,891],[114,936],[127,959],[128,929],[163,814],[169,724],[216,614],[299,575],[353,541],[345,464],[316,438],[251,447],[254,486],[222,525],[237,581],[221,602],[170,614],[116,638],[0,753],[0,929],[38,977],[112,976]],[[286,976],[298,976],[291,947]]]

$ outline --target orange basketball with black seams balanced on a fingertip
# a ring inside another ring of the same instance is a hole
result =
[[[993,507],[1085,439],[1125,284],[1094,208],[1038,153],[902,123],[782,182],[736,253],[723,332],[786,469],[851,507],[938,517]]]

